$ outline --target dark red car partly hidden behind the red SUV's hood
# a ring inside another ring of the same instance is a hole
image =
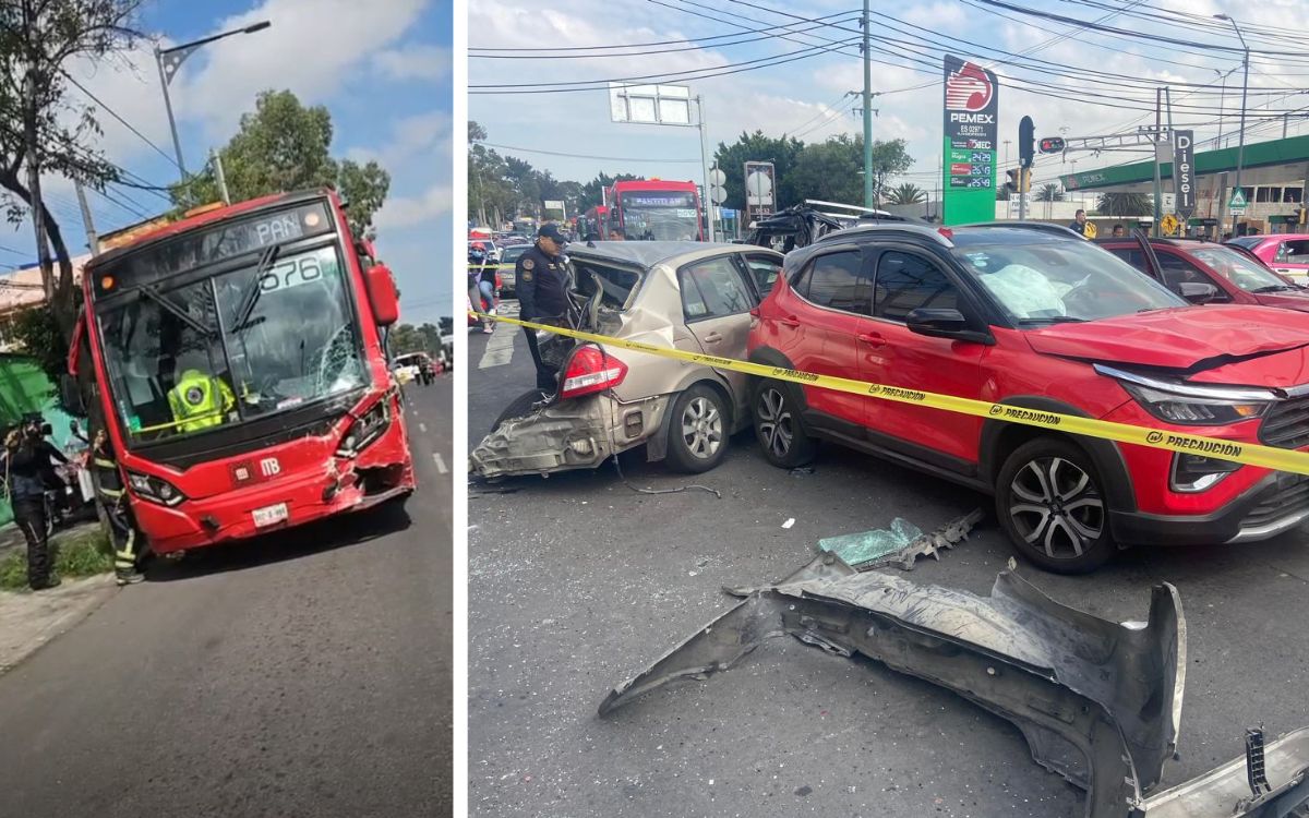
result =
[[[1183,297],[1183,284],[1210,284],[1212,294],[1196,293],[1191,298],[1206,304],[1262,304],[1309,311],[1309,289],[1272,272],[1240,247],[1200,240],[1152,238],[1152,260],[1136,240],[1109,238],[1096,243]]]

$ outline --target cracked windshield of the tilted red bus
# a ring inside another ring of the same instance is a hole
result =
[[[276,257],[258,287],[255,271],[143,288],[102,317],[115,404],[134,440],[220,428],[367,383],[336,249]]]

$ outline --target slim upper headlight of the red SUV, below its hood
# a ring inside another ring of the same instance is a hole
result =
[[[1140,403],[1145,411],[1178,425],[1227,425],[1261,418],[1278,400],[1267,389],[1181,383],[1096,365]]]

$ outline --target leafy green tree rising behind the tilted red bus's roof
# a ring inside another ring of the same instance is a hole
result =
[[[232,141],[219,151],[233,202],[306,187],[334,187],[350,203],[351,229],[363,233],[373,222],[390,190],[391,177],[376,161],[360,165],[331,157],[332,126],[326,106],[305,107],[289,90],[266,90],[255,110],[241,116]],[[220,199],[217,178],[208,168],[173,188],[181,207]]]

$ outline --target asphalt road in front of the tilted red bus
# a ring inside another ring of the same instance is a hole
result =
[[[0,677],[0,814],[449,815],[452,386],[407,387],[407,518],[153,568]]]

